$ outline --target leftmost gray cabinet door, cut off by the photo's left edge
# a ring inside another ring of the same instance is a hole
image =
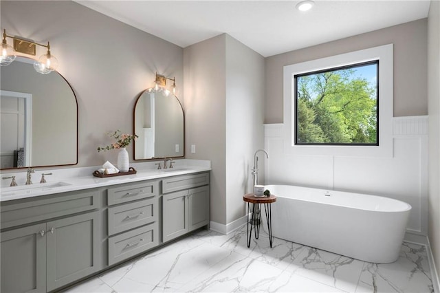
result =
[[[46,292],[46,225],[1,232],[1,292]]]

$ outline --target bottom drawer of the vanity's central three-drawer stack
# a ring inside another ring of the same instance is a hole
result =
[[[109,265],[118,263],[159,244],[157,221],[109,238]]]

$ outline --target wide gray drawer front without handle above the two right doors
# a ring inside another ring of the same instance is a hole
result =
[[[172,193],[183,189],[194,188],[209,184],[209,173],[198,173],[168,177],[162,180],[162,193]]]

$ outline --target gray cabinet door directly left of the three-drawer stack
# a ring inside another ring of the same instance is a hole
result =
[[[47,291],[100,269],[98,216],[96,211],[47,222]]]

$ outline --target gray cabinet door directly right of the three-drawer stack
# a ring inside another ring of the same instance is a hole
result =
[[[162,240],[184,235],[188,227],[188,191],[169,193],[162,197]]]

